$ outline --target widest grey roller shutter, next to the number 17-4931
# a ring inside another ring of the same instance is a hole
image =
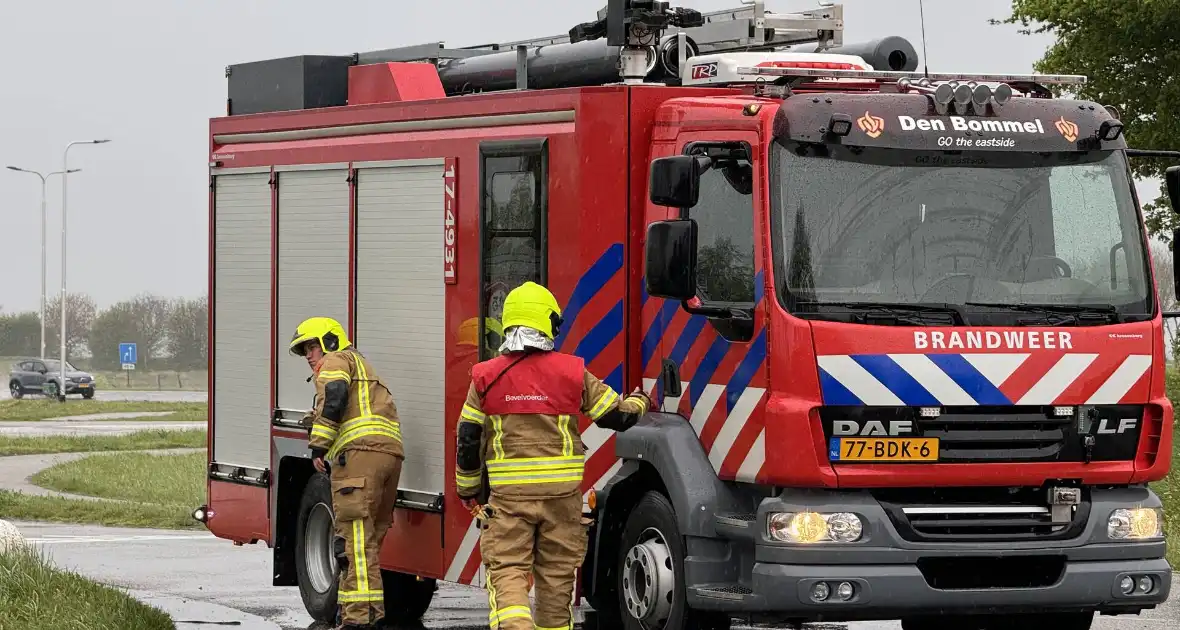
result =
[[[399,486],[444,492],[442,160],[358,171],[356,342],[389,385]]]

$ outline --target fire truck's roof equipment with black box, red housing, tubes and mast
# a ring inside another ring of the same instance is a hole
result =
[[[585,87],[620,80],[681,85],[687,59],[725,53],[851,54],[867,64],[858,67],[917,67],[917,53],[902,38],[845,46],[843,5],[773,13],[766,11],[763,0],[741,1],[742,6],[733,9],[700,13],[662,0],[608,0],[597,20],[560,35],[464,48],[447,48],[437,41],[350,55],[237,64],[225,70],[227,113]]]

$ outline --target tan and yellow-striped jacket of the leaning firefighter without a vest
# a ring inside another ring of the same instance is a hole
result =
[[[353,348],[328,353],[315,370],[308,446],[329,460],[346,449],[405,457],[393,394]]]

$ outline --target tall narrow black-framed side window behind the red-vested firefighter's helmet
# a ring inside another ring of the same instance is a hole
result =
[[[545,284],[548,153],[544,140],[489,142],[480,146],[480,361],[503,340],[500,317],[509,291],[526,281]]]

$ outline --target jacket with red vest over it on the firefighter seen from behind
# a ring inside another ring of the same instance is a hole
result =
[[[555,498],[579,492],[585,445],[578,414],[603,428],[627,431],[647,413],[645,395],[621,399],[559,352],[502,355],[477,363],[459,418],[455,487],[474,498],[489,490],[512,498]]]

